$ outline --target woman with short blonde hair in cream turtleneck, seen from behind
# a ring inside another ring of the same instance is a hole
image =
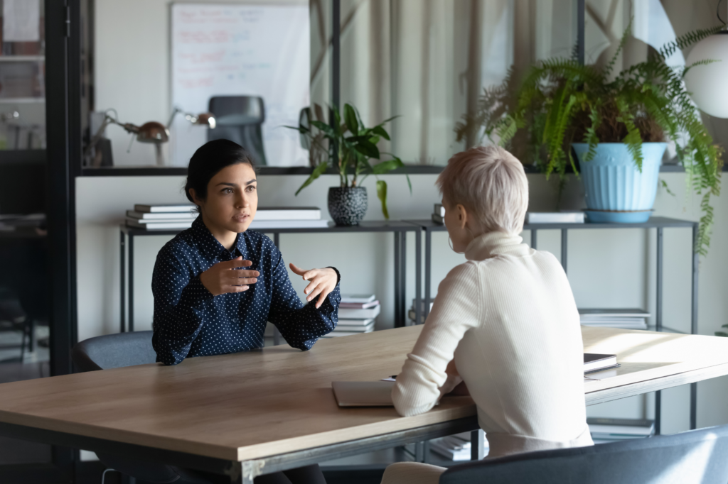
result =
[[[392,390],[397,412],[422,414],[467,387],[489,459],[592,445],[571,286],[553,254],[518,235],[529,205],[523,165],[503,148],[472,148],[437,183],[452,248],[467,262],[440,283]],[[392,464],[382,483],[436,483],[445,470]]]

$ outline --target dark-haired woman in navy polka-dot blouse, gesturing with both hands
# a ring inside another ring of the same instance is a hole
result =
[[[192,227],[162,247],[152,275],[157,361],[221,355],[263,347],[266,323],[286,342],[309,350],[338,321],[339,271],[293,273],[309,285],[301,302],[280,251],[248,230],[258,208],[250,155],[229,140],[199,148],[189,162],[185,192],[199,209]],[[256,483],[325,483],[317,465],[266,475]]]

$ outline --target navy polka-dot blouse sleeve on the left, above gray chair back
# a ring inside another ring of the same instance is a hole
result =
[[[157,361],[176,365],[184,360],[205,320],[205,303],[213,299],[189,267],[173,251],[162,249],[151,276],[154,294],[154,336]]]

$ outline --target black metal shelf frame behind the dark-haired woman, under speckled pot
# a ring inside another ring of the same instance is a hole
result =
[[[121,306],[121,321],[119,331],[134,331],[134,238],[145,235],[176,235],[181,230],[143,230],[126,225],[119,227],[119,303]],[[280,234],[282,233],[376,233],[392,232],[395,245],[395,328],[405,326],[405,297],[407,288],[407,233],[415,233],[415,267],[416,275],[416,299],[420,298],[420,271],[422,230],[419,226],[409,222],[398,220],[381,220],[372,222],[361,222],[360,225],[341,226],[329,222],[328,227],[321,228],[278,228],[258,230],[261,233],[272,233],[273,243],[280,246]],[[127,275],[128,273],[128,275]],[[418,304],[419,306],[419,304]],[[128,307],[128,315],[127,315]],[[128,321],[128,324],[127,324]],[[276,339],[277,339],[276,334]]]

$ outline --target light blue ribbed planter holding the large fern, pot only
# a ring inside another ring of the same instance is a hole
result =
[[[642,172],[624,143],[599,143],[592,161],[583,161],[589,145],[572,146],[579,158],[591,222],[640,223],[649,219],[667,143],[642,143]]]

